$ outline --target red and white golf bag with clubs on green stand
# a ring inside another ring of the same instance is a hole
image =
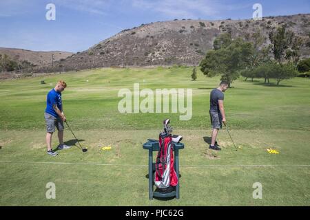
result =
[[[174,142],[169,119],[164,121],[165,131],[159,134],[159,151],[156,157],[154,182],[159,192],[172,192],[178,185],[178,176],[174,170]],[[180,137],[180,136],[178,136]],[[178,140],[182,140],[180,137]]]

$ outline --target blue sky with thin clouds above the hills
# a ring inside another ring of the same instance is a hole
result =
[[[45,6],[54,3],[56,20]],[[0,47],[79,52],[127,28],[173,19],[251,19],[310,12],[310,0],[0,0]]]

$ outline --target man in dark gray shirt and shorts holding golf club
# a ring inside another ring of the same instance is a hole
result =
[[[220,148],[216,142],[216,136],[218,135],[218,130],[222,129],[222,122],[225,124],[225,111],[224,111],[224,92],[228,88],[228,83],[225,81],[220,82],[220,86],[213,89],[210,93],[210,118],[212,125],[212,135],[210,149],[220,151]]]

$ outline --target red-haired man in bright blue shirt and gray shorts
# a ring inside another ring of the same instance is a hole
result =
[[[71,146],[63,144],[63,122],[65,122],[65,115],[63,113],[63,103],[61,102],[61,92],[65,90],[67,84],[63,80],[59,80],[56,87],[52,89],[46,98],[46,109],[44,113],[46,124],[46,144],[48,145],[48,155],[56,156],[58,153],[52,150],[52,134],[56,129],[58,130],[59,149],[68,149]]]

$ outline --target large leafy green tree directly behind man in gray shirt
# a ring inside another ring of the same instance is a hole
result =
[[[218,36],[215,42],[214,50],[209,50],[200,61],[200,70],[208,77],[220,74],[221,80],[226,80],[230,87],[238,78],[239,71],[249,66],[253,44],[240,38],[229,41],[227,33]]]

